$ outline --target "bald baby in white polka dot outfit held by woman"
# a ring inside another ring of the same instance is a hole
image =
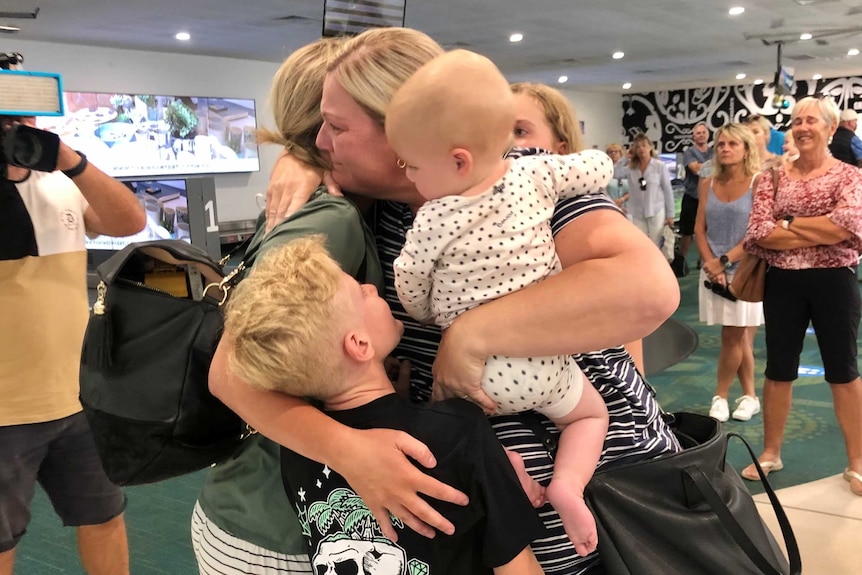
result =
[[[550,221],[563,198],[613,177],[603,152],[504,159],[515,125],[506,79],[487,58],[455,50],[420,68],[386,111],[399,166],[427,200],[395,261],[410,315],[446,329],[464,311],[561,270]],[[607,432],[607,409],[569,356],[486,360],[498,413],[536,410],[561,430],[545,497],[580,555],[596,548],[583,489]]]

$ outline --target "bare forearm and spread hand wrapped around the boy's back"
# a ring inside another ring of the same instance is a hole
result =
[[[249,387],[228,369],[230,345],[226,335],[210,365],[213,395],[269,439],[340,473],[368,505],[386,537],[397,538],[390,513],[426,537],[434,536],[432,527],[452,534],[452,523],[419,494],[457,505],[466,505],[467,496],[410,463],[407,457],[424,467],[436,465],[422,442],[401,431],[353,429],[300,399]]]

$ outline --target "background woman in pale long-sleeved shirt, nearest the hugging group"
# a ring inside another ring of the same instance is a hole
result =
[[[664,226],[673,227],[676,215],[670,171],[646,134],[638,134],[632,142],[628,212],[632,223],[657,246]]]

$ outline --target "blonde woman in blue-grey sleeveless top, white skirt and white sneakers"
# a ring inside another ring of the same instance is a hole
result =
[[[727,396],[733,380],[739,377],[742,396],[735,402],[733,418],[748,421],[760,413],[760,400],[754,392],[754,334],[763,323],[763,306],[737,301],[727,288],[743,256],[742,238],[751,213],[752,190],[759,181],[760,159],[751,131],[741,124],[719,128],[712,161],[713,175],[700,179],[694,224],[694,240],[703,260],[700,321],[721,325],[718,385],[709,415],[728,420]]]

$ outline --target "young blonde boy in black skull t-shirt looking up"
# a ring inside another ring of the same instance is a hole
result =
[[[470,498],[467,507],[432,502],[454,523],[452,536],[428,539],[392,517],[396,544],[341,476],[282,449],[314,572],[541,575],[529,544],[544,527],[481,411],[460,399],[427,406],[395,394],[383,360],[402,331],[377,289],[343,272],[320,236],[273,248],[227,305],[237,375],[318,399],[345,425],[408,432],[437,457],[428,473]]]

